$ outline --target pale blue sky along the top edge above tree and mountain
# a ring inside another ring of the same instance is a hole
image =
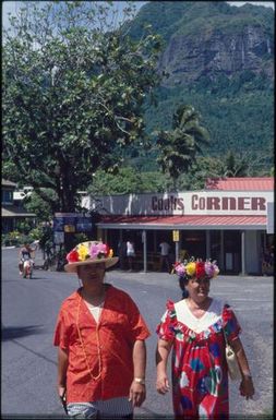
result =
[[[38,1],[39,3],[44,3],[44,1]],[[140,9],[146,1],[133,1],[137,9]],[[24,1],[2,1],[2,26],[7,28],[9,26],[8,13],[12,14],[16,13],[16,10],[21,8]],[[273,1],[228,1],[229,4],[232,5],[242,5],[245,3],[260,4],[274,9]],[[125,1],[115,1],[116,7],[119,10],[122,10],[125,5]]]

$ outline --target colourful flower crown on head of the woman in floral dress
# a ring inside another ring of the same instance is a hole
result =
[[[201,259],[194,260],[194,257],[191,257],[189,261],[177,261],[173,264],[172,273],[185,278],[213,278],[218,275],[219,268],[216,261],[202,261]]]

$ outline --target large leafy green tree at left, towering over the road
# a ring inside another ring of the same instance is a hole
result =
[[[33,185],[52,212],[75,211],[77,190],[98,168],[113,171],[123,147],[137,139],[143,146],[160,40],[149,28],[131,40],[112,8],[25,2],[4,33],[3,173]]]

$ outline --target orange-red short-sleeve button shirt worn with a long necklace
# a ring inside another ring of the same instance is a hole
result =
[[[149,331],[136,304],[124,291],[108,285],[97,324],[80,290],[61,304],[53,338],[55,346],[69,351],[67,401],[128,396],[133,380],[133,345],[137,339],[147,338]],[[100,376],[93,379],[92,375],[98,375],[100,364]]]

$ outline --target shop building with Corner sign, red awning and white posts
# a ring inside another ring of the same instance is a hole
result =
[[[86,196],[83,206],[98,209],[98,238],[117,254],[121,243],[134,242],[145,272],[158,269],[165,240],[171,262],[188,254],[217,260],[223,274],[261,275],[262,254],[274,243],[274,178],[209,179],[201,191]]]

